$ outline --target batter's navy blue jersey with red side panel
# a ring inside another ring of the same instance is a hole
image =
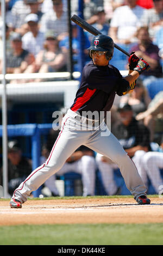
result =
[[[84,66],[82,81],[71,110],[110,111],[116,93],[122,95],[129,88],[120,71],[112,65],[96,66],[92,60]]]

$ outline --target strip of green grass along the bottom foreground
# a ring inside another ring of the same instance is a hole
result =
[[[0,227],[0,245],[163,245],[163,223]]]

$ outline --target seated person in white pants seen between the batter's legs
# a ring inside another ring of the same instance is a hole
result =
[[[51,130],[49,133],[46,145],[46,151],[48,151],[48,153],[52,150],[53,142],[56,141],[58,135],[59,130]],[[42,158],[42,161],[46,161],[46,158]],[[64,166],[57,172],[57,175],[64,175],[68,172],[75,172],[82,175],[83,196],[93,196],[95,194],[96,162],[91,149],[84,146],[78,148],[70,157],[68,157]],[[55,177],[54,174],[45,182],[45,186],[47,186],[54,195],[57,194]]]

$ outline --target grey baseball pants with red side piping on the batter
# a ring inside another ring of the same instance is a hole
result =
[[[51,175],[57,173],[80,145],[85,145],[115,162],[135,200],[139,196],[146,195],[146,187],[135,164],[124,151],[118,139],[109,131],[104,120],[96,129],[92,130],[92,125],[81,123],[76,120],[77,117],[77,113],[71,109],[68,110],[62,119],[59,136],[47,161],[33,170],[27,179],[18,186],[12,198],[20,200],[21,203],[26,202],[30,193],[37,190]]]

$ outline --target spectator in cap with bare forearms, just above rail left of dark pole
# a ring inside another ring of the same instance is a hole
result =
[[[35,63],[31,65],[28,72],[63,72],[67,69],[66,55],[59,48],[59,41],[53,31],[47,31],[43,50],[37,56]],[[42,81],[40,78],[36,82]],[[44,80],[43,80],[44,81]]]

